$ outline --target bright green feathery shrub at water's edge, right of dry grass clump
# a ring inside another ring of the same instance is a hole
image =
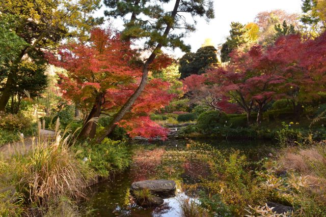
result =
[[[101,176],[111,172],[123,171],[131,163],[131,150],[124,141],[105,138],[100,144],[84,144],[76,147],[80,160],[87,158],[86,163]]]

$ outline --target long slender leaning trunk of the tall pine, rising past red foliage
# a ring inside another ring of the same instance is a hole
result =
[[[175,16],[178,12],[179,4],[181,0],[176,0],[175,5],[173,8],[173,11],[171,13],[171,17],[174,20]],[[170,22],[167,24],[167,27],[162,35],[162,38],[167,38],[170,30],[172,28],[174,22]],[[127,100],[127,102],[121,107],[121,109],[118,111],[118,113],[113,117],[110,124],[103,130],[103,132],[98,136],[96,139],[96,142],[100,143],[106,136],[110,135],[114,129],[117,126],[117,122],[119,122],[123,116],[129,111],[129,109],[132,107],[133,103],[137,100],[137,98],[141,95],[142,91],[144,90],[146,84],[147,84],[147,78],[148,78],[148,66],[153,62],[155,59],[157,53],[162,48],[162,44],[158,43],[155,47],[155,49],[152,51],[151,55],[146,60],[144,66],[143,66],[143,76],[141,83],[139,84],[138,88],[134,91],[134,93],[131,95],[131,97]]]

